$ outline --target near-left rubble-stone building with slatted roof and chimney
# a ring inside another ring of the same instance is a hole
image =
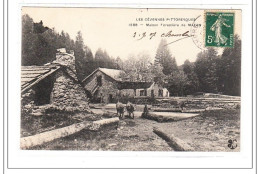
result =
[[[57,53],[56,61],[43,66],[22,66],[21,102],[25,107],[54,107],[88,111],[89,93],[77,79],[75,57]]]

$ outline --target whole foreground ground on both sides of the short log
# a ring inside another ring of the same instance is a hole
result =
[[[104,110],[103,110],[104,111]],[[138,114],[137,114],[138,115]],[[120,120],[117,127],[99,132],[81,131],[32,149],[44,150],[111,150],[111,151],[172,151],[166,141],[153,133],[158,127],[174,134],[195,151],[239,151],[240,110],[205,111],[200,116],[176,122],[158,123],[137,116]],[[233,147],[228,147],[229,140]]]

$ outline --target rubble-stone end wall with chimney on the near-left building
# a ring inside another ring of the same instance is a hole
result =
[[[64,65],[62,71],[55,74],[51,103],[60,110],[88,111],[88,98],[83,86],[76,77],[75,56],[57,53],[55,63]],[[68,68],[70,69],[68,69]]]

